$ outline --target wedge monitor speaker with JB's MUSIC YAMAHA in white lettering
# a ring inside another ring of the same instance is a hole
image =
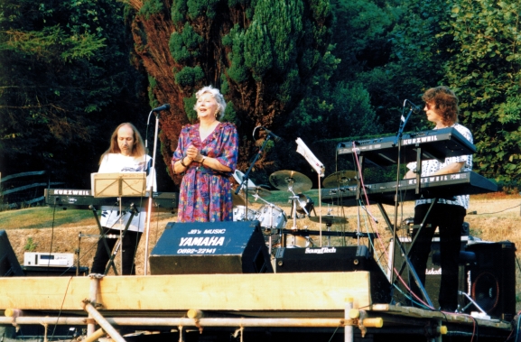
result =
[[[152,274],[273,273],[259,221],[170,222],[149,263]]]

